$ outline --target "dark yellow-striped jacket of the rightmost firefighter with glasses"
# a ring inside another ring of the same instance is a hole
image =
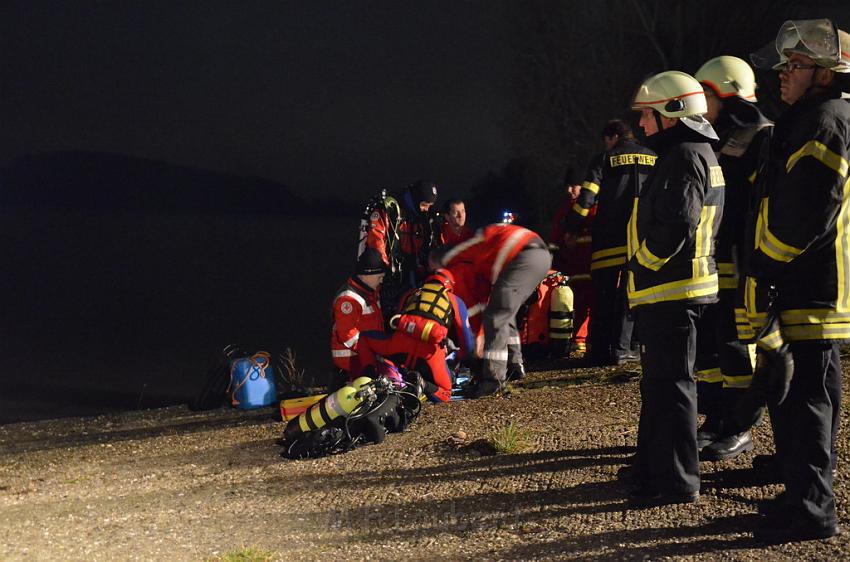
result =
[[[798,101],[776,123],[748,264],[777,288],[786,340],[850,339],[850,104],[838,93]]]

